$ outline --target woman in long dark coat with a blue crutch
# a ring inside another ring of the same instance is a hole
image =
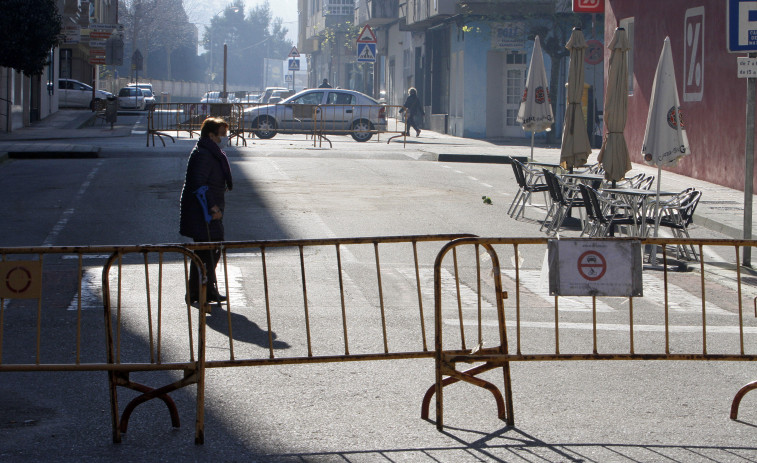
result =
[[[220,144],[226,137],[229,124],[220,118],[208,118],[202,123],[200,140],[189,154],[187,175],[181,191],[181,217],[179,233],[192,238],[195,242],[223,241],[224,194],[231,190],[231,168]],[[207,203],[210,221],[206,221],[204,206],[199,196]],[[197,255],[205,264],[208,274],[209,302],[223,302],[226,296],[218,292],[216,284],[216,265],[221,256],[220,249],[198,251]],[[199,272],[192,265],[189,271],[189,303],[199,300]]]

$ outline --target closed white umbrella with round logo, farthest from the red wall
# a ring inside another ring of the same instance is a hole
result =
[[[531,132],[531,160],[534,160],[534,133],[550,130],[555,122],[552,105],[549,101],[547,71],[544,69],[544,56],[541,52],[539,36],[534,39],[534,52],[528,67],[526,89],[518,109],[516,121],[523,125],[523,130]]]

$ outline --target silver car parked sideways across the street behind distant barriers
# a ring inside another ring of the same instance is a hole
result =
[[[386,130],[386,106],[354,90],[318,88],[303,90],[278,104],[248,108],[244,120],[246,128],[260,138],[272,138],[279,131],[312,133],[317,124],[324,133],[349,133],[355,141],[364,142],[373,131]]]

